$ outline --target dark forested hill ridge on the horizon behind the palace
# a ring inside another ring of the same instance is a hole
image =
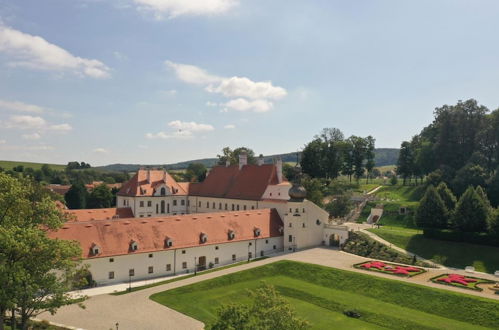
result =
[[[375,150],[375,161],[376,166],[386,166],[386,165],[394,165],[397,163],[399,154],[399,149],[395,148],[380,148]],[[289,152],[285,154],[276,154],[270,156],[264,156],[265,163],[271,163],[273,159],[281,157],[282,161],[285,163],[295,163],[296,162],[296,152]],[[182,170],[186,169],[187,166],[191,163],[201,163],[206,167],[213,167],[217,164],[218,158],[203,158],[203,159],[194,159],[188,160],[184,162],[174,163],[174,164],[155,164],[155,165],[146,165],[146,164],[111,164],[106,166],[99,166],[97,168],[107,170],[107,171],[126,171],[126,172],[135,172],[140,167],[156,167],[156,168],[166,168],[168,170]]]

